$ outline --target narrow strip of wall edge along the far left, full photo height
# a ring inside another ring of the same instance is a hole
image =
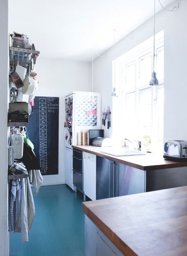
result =
[[[1,169],[0,169],[0,254],[8,255],[8,182],[7,182],[7,113],[8,113],[8,1],[0,2],[0,27],[1,27]]]

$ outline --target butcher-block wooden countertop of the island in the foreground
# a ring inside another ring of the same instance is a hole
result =
[[[187,255],[187,186],[83,202],[125,255]]]

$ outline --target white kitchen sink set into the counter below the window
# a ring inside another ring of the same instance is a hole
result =
[[[123,147],[103,148],[103,150],[101,150],[101,153],[116,156],[116,157],[146,155],[145,152],[129,150],[128,148],[123,148]]]

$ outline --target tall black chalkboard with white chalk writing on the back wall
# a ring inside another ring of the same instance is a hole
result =
[[[34,99],[33,112],[26,127],[42,175],[59,173],[59,97]]]

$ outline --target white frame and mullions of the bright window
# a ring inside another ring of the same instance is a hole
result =
[[[155,72],[157,63],[159,63],[159,51],[164,50],[164,31],[159,32],[155,35]],[[119,139],[120,141],[123,141],[124,138],[126,138],[125,134],[125,94],[127,93],[135,93],[135,100],[136,100],[136,126],[138,127],[138,106],[139,106],[139,93],[141,90],[151,90],[151,104],[152,104],[152,112],[151,116],[154,117],[154,119],[151,121],[151,152],[154,152],[154,150],[162,150],[163,146],[163,134],[162,140],[160,142],[160,145],[158,146],[156,144],[156,141],[158,140],[158,105],[157,105],[157,94],[158,90],[164,88],[164,77],[159,77],[159,84],[158,86],[149,86],[149,80],[151,79],[151,73],[150,78],[148,81],[142,81],[139,76],[139,64],[137,61],[140,61],[141,58],[145,56],[151,56],[151,59],[153,59],[153,38],[149,38],[136,48],[133,48],[132,50],[128,51],[127,53],[123,54],[122,56],[116,58],[115,60],[115,69],[114,69],[114,61],[113,61],[113,75],[114,70],[116,72],[115,76],[116,81],[114,84],[116,84],[116,92],[118,97],[113,98],[113,109],[114,109],[114,120],[113,123],[118,123],[119,120],[117,120],[117,117],[121,118],[121,127],[120,127],[120,134],[121,138],[119,138],[119,126],[114,124],[114,130],[113,130],[113,138]],[[134,89],[132,88],[126,88],[125,82],[126,77],[124,75],[124,69],[126,68],[126,65],[130,65],[130,63],[136,62],[136,87]],[[138,65],[137,65],[138,63]],[[138,68],[137,68],[138,67]],[[163,66],[164,67],[164,66]],[[153,70],[153,61],[152,61],[152,67],[151,72]],[[163,72],[164,74],[164,72]],[[158,77],[157,77],[158,78]],[[113,79],[114,82],[114,79]],[[118,85],[118,87],[117,87]],[[138,128],[137,128],[138,129]],[[157,129],[157,130],[156,130]],[[161,130],[161,129],[160,129]],[[162,131],[164,129],[162,128]],[[162,132],[163,133],[163,132]],[[118,138],[115,136],[118,135]],[[138,134],[137,134],[138,135]],[[136,135],[133,136],[133,138],[129,138],[131,140],[140,140],[140,138]],[[158,146],[158,147],[157,147]]]

